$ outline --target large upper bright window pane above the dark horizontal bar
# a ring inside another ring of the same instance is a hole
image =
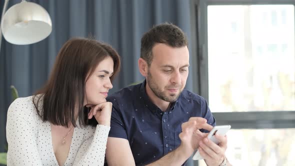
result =
[[[259,23],[280,11],[285,24]],[[295,110],[294,6],[209,5],[207,15],[210,109]]]

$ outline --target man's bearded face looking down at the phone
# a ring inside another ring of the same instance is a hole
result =
[[[158,98],[173,102],[186,83],[189,66],[187,46],[171,47],[157,43],[152,48],[152,55],[146,76],[147,86]]]

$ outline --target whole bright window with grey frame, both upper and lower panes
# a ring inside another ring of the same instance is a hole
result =
[[[195,91],[217,125],[232,126],[226,156],[233,165],[293,165],[295,0],[279,2],[197,1]]]

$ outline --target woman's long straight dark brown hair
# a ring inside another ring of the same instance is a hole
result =
[[[120,68],[118,53],[108,44],[95,39],[72,38],[61,47],[48,81],[33,97],[38,115],[55,125],[88,125],[87,111],[83,111],[85,82],[96,65],[110,56],[114,63],[113,80]]]

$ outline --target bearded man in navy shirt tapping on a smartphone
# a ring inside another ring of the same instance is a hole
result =
[[[163,23],[142,36],[138,67],[146,79],[107,98],[108,165],[181,165],[196,149],[207,165],[226,165],[226,137],[217,135],[216,145],[203,133],[215,125],[207,102],[183,89],[188,66],[187,38],[177,26]]]

